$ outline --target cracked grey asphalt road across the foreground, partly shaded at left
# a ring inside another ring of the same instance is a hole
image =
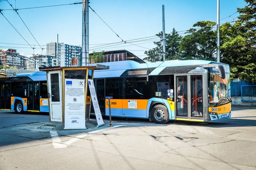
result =
[[[0,112],[0,169],[256,169],[256,109],[218,122],[114,118],[87,130],[41,129],[48,115]]]

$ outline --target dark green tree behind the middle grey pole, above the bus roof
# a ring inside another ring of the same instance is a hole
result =
[[[161,40],[155,41],[154,44],[157,46],[152,50],[145,51],[144,54],[147,55],[143,60],[149,62],[158,62],[163,61],[163,32],[159,32],[156,34]],[[166,44],[166,60],[174,60],[178,59],[178,45],[181,41],[182,37],[178,34],[178,32],[173,28],[172,33],[165,34],[165,44]]]

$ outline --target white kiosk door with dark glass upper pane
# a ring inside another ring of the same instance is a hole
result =
[[[48,72],[49,86],[49,103],[51,121],[62,122],[62,99],[61,99],[61,72]]]

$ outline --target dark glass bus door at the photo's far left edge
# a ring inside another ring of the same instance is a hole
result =
[[[0,83],[0,109],[11,109],[11,83]]]

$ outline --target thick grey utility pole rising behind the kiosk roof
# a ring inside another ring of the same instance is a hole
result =
[[[83,0],[82,66],[89,65],[89,0]],[[79,61],[78,61],[79,66]]]

